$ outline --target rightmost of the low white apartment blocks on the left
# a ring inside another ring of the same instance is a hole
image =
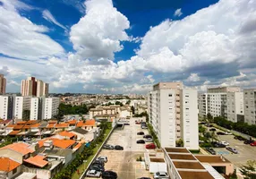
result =
[[[51,119],[54,115],[57,115],[59,105],[59,98],[43,98],[42,119]]]

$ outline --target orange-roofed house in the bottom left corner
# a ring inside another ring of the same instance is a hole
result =
[[[0,178],[13,179],[21,173],[21,163],[13,158],[0,157]]]

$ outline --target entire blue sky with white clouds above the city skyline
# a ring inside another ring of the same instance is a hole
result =
[[[159,81],[256,87],[255,0],[0,0],[7,92],[140,93]]]

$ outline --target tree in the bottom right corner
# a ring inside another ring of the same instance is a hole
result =
[[[242,166],[240,172],[244,179],[256,178],[256,160],[248,160],[246,166]]]

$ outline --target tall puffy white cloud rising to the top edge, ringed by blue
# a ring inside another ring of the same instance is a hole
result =
[[[86,15],[71,28],[73,48],[84,58],[113,60],[114,53],[123,49],[120,41],[129,39],[124,30],[130,22],[111,0],[91,0],[85,5]]]

